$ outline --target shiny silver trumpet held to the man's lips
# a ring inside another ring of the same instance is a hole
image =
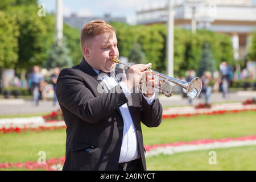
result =
[[[122,64],[124,65],[123,67],[123,75],[126,77],[126,73],[125,70],[126,68],[130,68],[133,65],[135,65],[134,63],[122,63],[119,59],[117,59],[116,57],[112,58],[112,61],[114,61],[117,64]],[[150,68],[148,68],[148,70],[150,70]],[[197,98],[201,92],[202,89],[202,80],[199,77],[195,77],[193,78],[193,80],[191,80],[190,82],[187,81],[182,81],[167,75],[164,75],[162,73],[156,72],[156,71],[152,71],[150,75],[154,78],[156,78],[158,81],[160,81],[160,85],[161,86],[154,86],[154,88],[151,88],[153,90],[156,90],[157,92],[160,92],[162,94],[164,94],[167,97],[171,97],[172,96],[172,83],[179,85],[181,87],[183,87],[184,89],[187,90],[187,97],[189,100],[195,100],[195,98]],[[139,83],[138,85],[138,90],[142,93],[147,93],[147,83],[146,83],[146,78],[142,78],[142,81]]]

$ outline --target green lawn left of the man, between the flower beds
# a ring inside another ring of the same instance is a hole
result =
[[[39,151],[46,152],[46,159],[64,156],[65,138],[64,129],[0,135],[0,163],[36,161]]]

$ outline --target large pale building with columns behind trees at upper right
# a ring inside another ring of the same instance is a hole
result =
[[[173,1],[173,0],[172,0]],[[193,29],[207,28],[223,32],[232,38],[234,59],[245,58],[250,35],[256,27],[255,1],[249,0],[176,0],[175,26]],[[158,3],[137,10],[137,24],[166,23],[168,4]]]

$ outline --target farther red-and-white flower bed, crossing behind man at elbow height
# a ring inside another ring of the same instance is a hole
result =
[[[191,117],[193,115],[214,115],[224,114],[228,112],[237,113],[241,111],[256,111],[256,104],[216,104],[211,108],[196,109],[195,107],[171,107],[163,109],[163,119],[176,118],[176,117]],[[62,118],[61,110],[52,112],[49,115],[43,117],[31,117],[31,118],[12,118],[12,119],[0,119],[0,134],[5,133],[20,133],[24,131],[46,131],[65,129],[65,122],[59,120]],[[53,119],[53,120],[52,120]]]

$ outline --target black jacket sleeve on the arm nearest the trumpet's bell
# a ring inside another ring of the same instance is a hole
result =
[[[147,127],[157,127],[162,122],[163,108],[158,98],[154,104],[149,105],[146,99],[141,96],[141,122]]]

